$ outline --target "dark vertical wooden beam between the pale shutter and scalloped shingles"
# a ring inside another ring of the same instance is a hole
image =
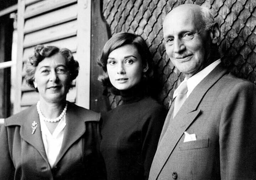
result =
[[[110,38],[110,28],[102,14],[103,1],[92,0],[92,37],[91,37],[91,103],[90,107],[96,112],[109,109],[108,98],[103,96],[103,87],[98,81],[98,75],[102,69],[97,66],[97,60],[101,56],[103,46]]]

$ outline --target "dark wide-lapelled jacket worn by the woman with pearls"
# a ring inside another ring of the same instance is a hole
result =
[[[1,180],[103,179],[100,114],[68,103],[60,153],[51,169],[36,106],[5,119],[0,134]],[[32,134],[32,122],[38,124]]]

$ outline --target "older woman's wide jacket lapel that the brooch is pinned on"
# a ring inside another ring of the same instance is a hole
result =
[[[36,122],[38,124],[36,130],[34,131],[34,134],[32,134],[33,122]],[[46,152],[44,150],[39,115],[37,113],[36,105],[31,106],[31,111],[26,114],[26,117],[23,120],[23,124],[21,124],[20,135],[23,140],[36,148],[36,150],[41,154],[44,160],[48,162]]]

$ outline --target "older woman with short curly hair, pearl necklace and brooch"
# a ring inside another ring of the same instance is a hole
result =
[[[37,45],[25,66],[39,101],[5,119],[0,179],[104,179],[98,150],[100,115],[66,101],[79,69],[71,51]]]

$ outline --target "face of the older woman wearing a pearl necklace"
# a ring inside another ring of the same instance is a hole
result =
[[[40,100],[60,102],[66,99],[71,80],[66,60],[62,54],[46,57],[39,62],[34,78],[34,85],[37,86]]]

